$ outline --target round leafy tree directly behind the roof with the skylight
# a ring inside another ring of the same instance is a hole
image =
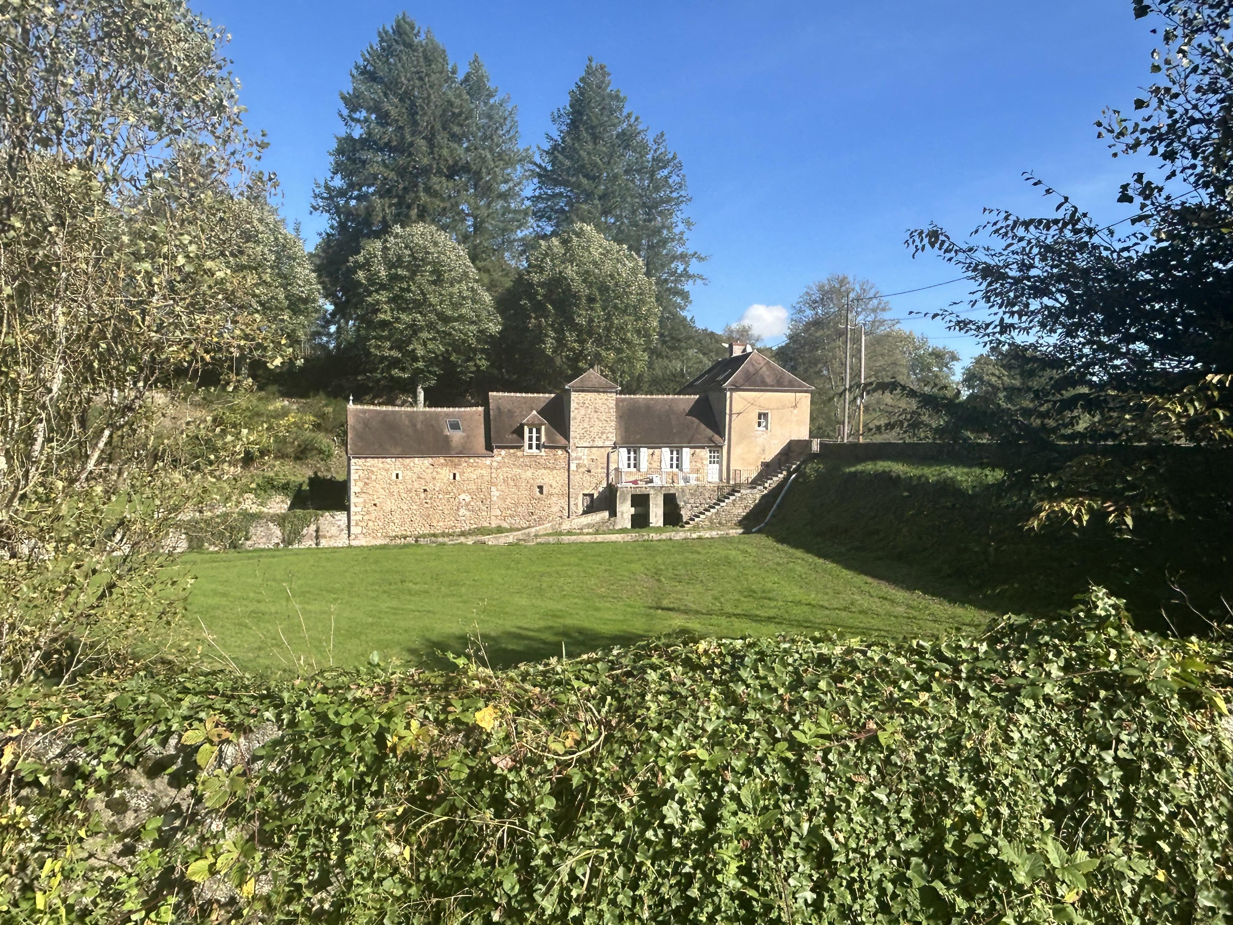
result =
[[[501,329],[466,252],[432,224],[397,226],[364,242],[350,264],[353,337],[377,388],[423,388],[482,369]]]

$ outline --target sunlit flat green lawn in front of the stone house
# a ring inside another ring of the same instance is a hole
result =
[[[240,667],[409,662],[482,639],[493,665],[666,633],[937,635],[988,618],[766,536],[199,553],[189,625]],[[298,612],[297,612],[298,608]],[[301,624],[302,614],[302,624]],[[203,651],[210,651],[205,646]]]

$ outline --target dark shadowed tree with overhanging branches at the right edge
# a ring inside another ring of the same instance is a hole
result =
[[[1053,216],[985,210],[972,239],[937,226],[909,237],[916,253],[962,268],[969,305],[991,310],[988,319],[943,312],[952,329],[994,355],[1048,358],[1042,438],[1083,414],[1090,439],[1161,439],[1168,428],[1141,413],[1143,397],[1228,372],[1233,358],[1233,4],[1153,0],[1133,11],[1161,39],[1154,83],[1134,115],[1111,109],[1096,125],[1113,157],[1150,162],[1117,196],[1136,211],[1105,226],[1030,176],[1057,200]]]

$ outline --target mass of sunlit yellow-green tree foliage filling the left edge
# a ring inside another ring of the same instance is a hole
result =
[[[312,310],[223,38],[182,0],[0,16],[0,678],[122,666],[175,609],[168,533],[249,434],[154,392],[282,363]]]

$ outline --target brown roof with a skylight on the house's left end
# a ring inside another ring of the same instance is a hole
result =
[[[450,418],[462,433],[450,433]],[[487,456],[483,408],[403,408],[346,406],[350,456]]]

